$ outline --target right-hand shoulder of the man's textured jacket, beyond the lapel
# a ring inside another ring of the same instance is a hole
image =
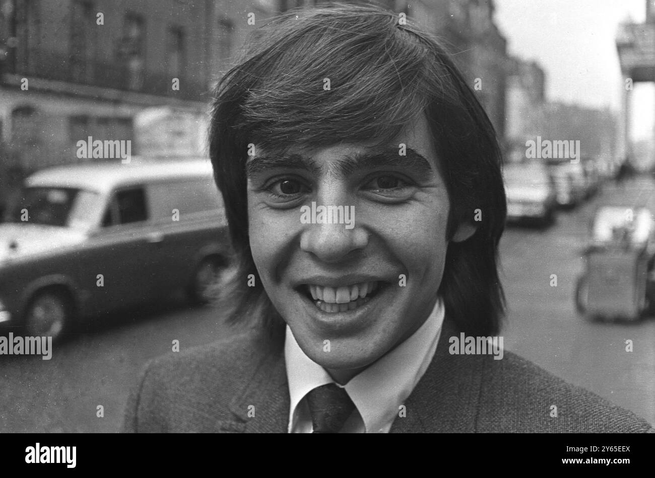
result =
[[[655,432],[631,411],[512,352],[505,351],[502,360],[485,357],[483,367],[479,431]]]

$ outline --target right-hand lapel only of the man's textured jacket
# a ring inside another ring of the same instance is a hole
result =
[[[451,355],[449,339],[458,332],[444,320],[434,358],[405,401],[406,416],[391,433],[470,433],[475,431],[483,361],[477,355]]]

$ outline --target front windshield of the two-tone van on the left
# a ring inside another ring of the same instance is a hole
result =
[[[8,222],[88,229],[97,221],[100,194],[77,188],[28,187],[10,209]]]

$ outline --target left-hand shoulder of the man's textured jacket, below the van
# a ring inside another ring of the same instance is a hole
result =
[[[145,364],[126,405],[122,432],[212,432],[231,420],[231,401],[280,347],[244,332]]]

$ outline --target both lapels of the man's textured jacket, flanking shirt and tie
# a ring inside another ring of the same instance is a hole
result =
[[[449,339],[458,331],[444,320],[434,358],[405,400],[406,416],[391,433],[470,433],[475,431],[484,362],[478,355],[449,353]],[[234,420],[220,420],[221,432],[286,433],[289,388],[282,349],[263,356],[259,367],[230,403]]]

